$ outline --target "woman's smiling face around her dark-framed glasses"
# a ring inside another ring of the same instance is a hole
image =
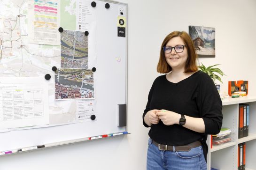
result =
[[[175,47],[176,45],[185,45],[180,37],[173,37],[168,41],[165,46]],[[174,48],[172,48],[170,53],[164,53],[166,62],[171,66],[172,70],[185,69],[185,63],[187,60],[187,49],[184,47],[183,52],[177,53]]]

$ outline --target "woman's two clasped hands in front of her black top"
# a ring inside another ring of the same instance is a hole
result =
[[[160,120],[167,126],[178,124],[179,118],[180,114],[173,111],[154,109],[147,112],[149,126],[151,126],[151,124],[158,124]]]

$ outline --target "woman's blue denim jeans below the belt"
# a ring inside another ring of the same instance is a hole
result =
[[[190,151],[163,151],[148,140],[147,170],[207,170],[202,146]]]

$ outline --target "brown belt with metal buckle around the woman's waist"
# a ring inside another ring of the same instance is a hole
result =
[[[173,148],[175,149],[175,151],[190,151],[191,148],[196,148],[201,146],[200,141],[195,141],[193,143],[189,143],[187,145],[182,145],[182,146],[163,145],[155,142],[154,140],[152,140],[152,143],[155,146],[157,146],[159,150],[170,150],[170,151],[173,151]]]

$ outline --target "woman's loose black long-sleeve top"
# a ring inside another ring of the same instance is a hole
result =
[[[148,135],[157,143],[173,146],[200,140],[206,160],[207,135],[219,133],[223,118],[222,101],[209,75],[198,71],[178,83],[168,81],[166,75],[157,77],[149,91],[147,106],[143,113],[143,125],[146,127],[149,126],[145,123],[144,117],[147,111],[153,109],[202,118],[205,133],[197,133],[177,124],[166,126],[160,120],[158,124],[152,124]]]

